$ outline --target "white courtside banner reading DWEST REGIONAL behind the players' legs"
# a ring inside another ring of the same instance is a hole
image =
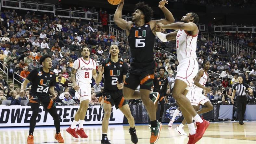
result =
[[[60,119],[60,125],[71,125],[74,120],[77,106],[56,106]],[[88,108],[84,118],[84,124],[101,124],[104,117],[104,109],[99,105]],[[32,115],[30,106],[0,106],[0,127],[3,126],[29,126],[29,120]],[[109,124],[122,124],[123,113],[114,107],[111,109]],[[39,114],[36,121],[37,126],[54,125],[52,116],[45,112],[40,106]]]

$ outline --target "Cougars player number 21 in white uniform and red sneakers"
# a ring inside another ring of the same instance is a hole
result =
[[[75,60],[72,70],[71,70],[71,80],[73,83],[73,88],[76,90],[75,95],[80,100],[80,107],[75,114],[74,121],[72,125],[67,128],[67,132],[73,137],[78,138],[88,138],[88,136],[83,131],[84,117],[89,106],[89,101],[91,101],[91,85],[92,77],[96,80],[98,78],[96,73],[96,63],[91,59],[90,51],[88,47],[83,47],[80,50],[83,55],[81,58]],[[77,131],[76,125],[79,124]]]

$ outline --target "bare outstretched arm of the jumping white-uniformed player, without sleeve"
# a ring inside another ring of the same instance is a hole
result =
[[[164,25],[162,23],[157,23],[157,25],[162,29],[173,29],[173,30],[187,30],[187,31],[195,31],[198,30],[198,27],[193,22],[175,22],[172,24]]]

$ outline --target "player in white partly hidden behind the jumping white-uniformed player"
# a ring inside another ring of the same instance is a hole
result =
[[[210,100],[202,94],[202,90],[206,90],[207,92],[211,91],[210,88],[205,87],[205,84],[207,82],[207,76],[208,76],[207,70],[209,69],[209,67],[210,67],[210,62],[208,60],[205,60],[203,62],[203,68],[199,69],[196,77],[194,78],[194,85],[190,88],[190,91],[186,95],[186,97],[190,100],[193,108],[197,111],[198,114],[204,114],[213,109],[213,106]],[[205,107],[203,107],[202,109],[199,109],[199,104],[204,105]],[[173,115],[173,117],[176,117],[176,116],[177,115]],[[184,119],[182,123],[175,128],[175,130],[180,135],[186,135],[186,133],[183,130],[183,127],[185,124],[186,124],[186,120]]]

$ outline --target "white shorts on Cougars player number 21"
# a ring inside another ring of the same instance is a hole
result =
[[[80,102],[83,100],[91,101],[91,85],[84,84],[81,81],[77,81],[76,83],[79,86],[79,90],[76,90],[75,97],[77,97]]]

